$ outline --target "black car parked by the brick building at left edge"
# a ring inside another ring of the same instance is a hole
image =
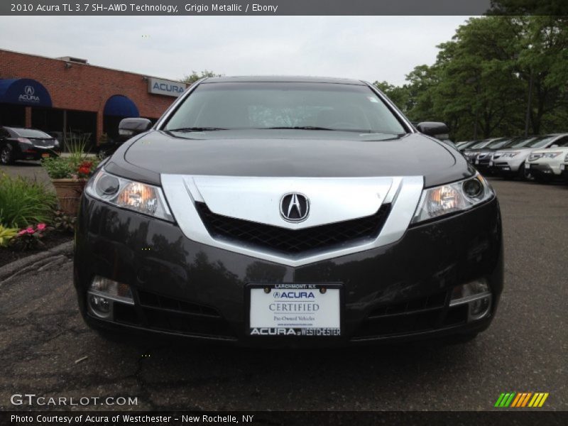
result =
[[[0,163],[40,160],[58,155],[59,141],[38,129],[0,127]]]

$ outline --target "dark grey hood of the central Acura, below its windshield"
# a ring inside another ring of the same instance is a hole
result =
[[[475,173],[454,148],[403,136],[332,131],[149,131],[125,143],[105,166],[145,182],[163,174],[258,177],[425,177],[439,185]]]

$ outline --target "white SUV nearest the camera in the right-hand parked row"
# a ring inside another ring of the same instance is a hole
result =
[[[559,135],[550,148],[535,149],[528,156],[525,168],[537,182],[562,178],[561,165],[568,155],[568,133]]]

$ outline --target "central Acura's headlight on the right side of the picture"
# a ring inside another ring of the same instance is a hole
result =
[[[491,185],[479,174],[459,182],[427,188],[422,191],[411,223],[424,222],[471,209],[476,204],[490,200],[493,195]]]

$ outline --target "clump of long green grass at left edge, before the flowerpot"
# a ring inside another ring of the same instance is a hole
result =
[[[0,174],[0,224],[21,229],[49,223],[57,198],[41,182]]]

